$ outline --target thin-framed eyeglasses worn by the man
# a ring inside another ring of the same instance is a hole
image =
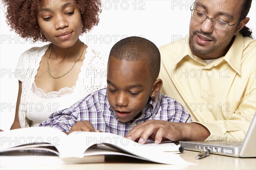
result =
[[[196,9],[192,9],[192,6],[191,6],[190,10],[192,11],[191,16],[193,18],[195,18],[198,21],[205,21],[207,18],[209,18],[209,19],[212,20],[212,26],[214,26],[218,29],[225,30],[225,29],[227,29],[228,26],[234,26],[234,25],[236,25],[237,23],[239,23],[241,21],[240,20],[237,23],[234,23],[234,24],[230,25],[224,20],[221,20],[221,19],[218,19],[218,18],[208,17],[207,14],[205,14],[204,12],[198,11]]]

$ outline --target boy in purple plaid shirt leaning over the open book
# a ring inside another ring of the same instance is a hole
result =
[[[141,37],[122,39],[109,54],[107,88],[53,113],[39,126],[55,127],[67,133],[102,131],[125,136],[130,130],[136,133],[135,126],[145,122],[147,128],[143,135],[132,140],[139,139],[144,144],[147,139],[153,139],[159,143],[163,137],[168,138],[163,133],[168,123],[191,121],[180,103],[160,94],[163,82],[157,79],[159,71],[160,52],[153,42]],[[148,134],[147,130],[155,124],[163,126]]]

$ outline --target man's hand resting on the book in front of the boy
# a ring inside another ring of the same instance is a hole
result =
[[[133,141],[139,139],[140,144],[145,144],[147,139],[152,139],[158,144],[163,140],[205,140],[209,135],[209,130],[198,123],[149,120],[133,127],[125,137]]]

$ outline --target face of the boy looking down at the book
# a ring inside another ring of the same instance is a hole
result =
[[[137,119],[148,103],[154,81],[146,61],[108,61],[108,102],[121,122]]]

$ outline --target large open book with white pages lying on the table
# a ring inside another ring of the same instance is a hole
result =
[[[51,127],[29,127],[0,132],[0,155],[30,151],[53,153],[69,163],[104,162],[104,155],[130,156],[163,164],[187,164],[183,148],[171,142],[138,144],[127,138],[99,132],[77,131],[69,135]],[[73,160],[75,160],[72,162]]]

